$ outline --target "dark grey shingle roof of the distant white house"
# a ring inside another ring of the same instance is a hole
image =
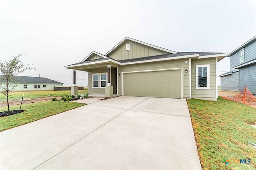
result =
[[[3,77],[4,75],[0,75]],[[18,83],[64,84],[44,77],[15,76]]]

